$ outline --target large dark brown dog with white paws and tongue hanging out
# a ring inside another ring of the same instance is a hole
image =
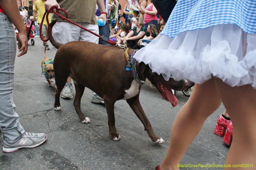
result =
[[[51,27],[56,21],[51,23]],[[68,76],[74,80],[76,96],[74,106],[79,119],[83,123],[90,122],[81,111],[81,97],[84,88],[88,87],[104,99],[107,114],[109,137],[112,140],[120,140],[116,131],[114,104],[117,100],[126,100],[134,113],[143,123],[148,136],[155,143],[163,143],[161,137],[154,133],[147,116],[145,115],[139,101],[141,85],[132,77],[132,72],[127,71],[125,63],[127,59],[122,48],[114,46],[103,46],[85,41],[72,41],[66,44],[56,42],[52,37],[52,45],[58,49],[54,58],[55,82],[57,90],[55,92],[54,110],[60,110],[60,92],[64,88]],[[128,50],[130,58],[133,49]],[[169,99],[173,105],[177,98],[172,94],[172,89],[182,91],[187,89],[187,81],[165,81],[161,75],[152,72],[148,65],[136,63],[138,77],[143,82],[153,84],[162,96]]]

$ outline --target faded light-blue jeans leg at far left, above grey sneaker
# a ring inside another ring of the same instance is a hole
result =
[[[0,30],[0,126],[4,137],[12,141],[25,130],[19,123],[19,115],[12,100],[16,35],[11,20],[1,12]]]

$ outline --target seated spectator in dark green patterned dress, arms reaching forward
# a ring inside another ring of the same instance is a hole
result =
[[[132,49],[140,49],[138,42],[140,39],[144,37],[146,34],[146,29],[142,26],[143,19],[140,17],[136,18],[135,27],[132,29],[130,33],[128,33],[124,38],[120,37],[119,39],[123,41],[124,44],[128,44],[129,48]]]

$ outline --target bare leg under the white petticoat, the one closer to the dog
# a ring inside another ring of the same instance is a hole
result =
[[[188,146],[204,125],[204,121],[221,104],[213,78],[202,85],[196,84],[188,102],[180,109],[171,130],[171,138],[161,170],[178,170],[178,164]]]

